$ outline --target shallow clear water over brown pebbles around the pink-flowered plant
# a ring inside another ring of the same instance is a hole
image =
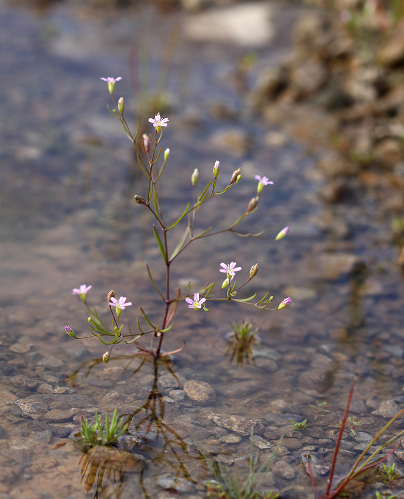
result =
[[[288,295],[292,304],[276,313],[219,302],[205,313],[180,304],[175,326],[164,339],[166,351],[186,341],[186,348],[168,366],[176,377],[164,364],[155,372],[149,362],[132,374],[139,365],[138,359],[130,358],[133,347],[117,348],[108,366],[97,364],[89,371],[105,347],[92,338],[73,340],[64,333],[63,326],[69,324],[77,335],[87,334],[86,311],[71,295],[72,288],[82,283],[92,284],[89,304],[96,305],[106,320],[105,297],[111,288],[134,303],[122,316],[133,329],[139,305],[152,320],[161,320],[145,263],[161,284],[164,268],[150,231],[151,219],[132,201],[146,186],[133,168],[129,141],[105,108],[108,93],[99,78],[123,76],[116,95],[125,95],[128,103],[128,57],[135,64],[133,53],[139,40],[147,38],[155,77],[164,40],[180,20],[177,14],[166,17],[148,8],[131,15],[118,11],[95,16],[64,3],[40,15],[1,6],[3,499],[94,496],[97,487],[91,487],[94,479],[91,473],[88,478],[88,470],[96,473],[105,461],[99,497],[202,498],[202,481],[211,475],[194,440],[206,454],[220,455],[219,460],[236,475],[244,473],[244,461],[237,458],[247,456],[250,449],[248,432],[237,433],[232,424],[224,428],[229,424],[217,415],[258,419],[263,426],[261,431],[256,426],[256,433],[267,447],[276,444],[282,432],[289,432],[277,458],[283,465],[267,476],[263,487],[287,489],[282,497],[310,497],[312,486],[301,455],[310,452],[319,465],[330,466],[332,437],[359,373],[350,413],[363,421],[359,430],[374,435],[388,421],[387,413],[386,417],[372,414],[382,402],[392,401],[392,411],[404,405],[403,279],[386,221],[378,217],[370,193],[332,209],[322,205],[316,195],[321,181],[314,158],[291,140],[282,147],[268,144],[268,130],[245,117],[242,96],[235,91],[233,69],[246,49],[230,44],[180,37],[168,79],[170,126],[162,139],[163,148],[171,150],[164,209],[174,220],[192,198],[193,169],[199,169],[202,185],[210,180],[219,159],[223,185],[239,166],[242,182],[203,207],[197,227],[221,229],[236,220],[254,196],[254,176],[260,174],[273,180],[274,186],[265,188],[258,211],[240,230],[266,229],[269,239],[286,225],[290,232],[276,244],[232,235],[195,243],[173,265],[172,286],[184,290],[191,280],[193,292],[193,287],[197,290],[206,281],[223,277],[218,272],[221,261],[236,260],[245,275],[258,261],[259,273],[245,286],[243,297],[269,291],[275,304]],[[155,25],[161,27],[158,34]],[[284,41],[275,38],[258,53],[271,60],[283,51]],[[236,110],[235,117],[213,117],[209,110],[218,102]],[[220,134],[235,128],[248,139],[245,147],[236,144],[229,151]],[[182,231],[181,225],[172,231],[172,248]],[[229,322],[241,322],[246,316],[260,327],[261,342],[254,346],[256,363],[237,366],[229,362],[230,355],[225,356],[226,338]],[[149,408],[137,412],[156,377],[156,412]],[[169,393],[187,380],[207,382],[215,400],[208,406],[189,397],[174,400]],[[331,413],[313,421],[309,404],[316,399],[326,400]],[[164,402],[163,423],[168,428],[161,426],[159,401]],[[135,415],[132,427],[142,414],[155,416],[157,427],[154,424],[152,430],[162,434],[156,441],[141,440],[135,447],[138,455],[83,457],[68,436],[79,429],[81,416],[92,421],[96,411],[112,413],[115,407],[131,421]],[[281,430],[289,418],[308,418],[316,425],[304,432]],[[400,428],[401,423],[394,427]],[[347,444],[339,474],[358,456],[352,449],[360,439],[355,441],[349,433],[344,437]],[[226,443],[227,435],[240,438]],[[262,460],[271,452],[255,450]],[[93,460],[92,467],[82,468],[87,459]],[[403,469],[399,455],[389,459]],[[285,463],[293,473],[287,475]],[[116,472],[116,483],[113,473],[107,477],[109,467]],[[182,482],[173,485],[163,480],[166,475],[175,477],[178,470]],[[184,476],[195,483],[184,481]],[[399,491],[400,486],[395,491],[400,496]],[[372,488],[359,494],[374,497]]]

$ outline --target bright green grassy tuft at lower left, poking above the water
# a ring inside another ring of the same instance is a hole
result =
[[[94,425],[90,425],[87,419],[84,421],[81,418],[81,430],[75,440],[80,444],[84,452],[98,445],[112,445],[128,429],[128,424],[121,429],[124,418],[121,418],[118,422],[118,409],[115,409],[111,423],[108,420],[108,415],[105,416],[105,433],[97,413],[95,417],[96,423]]]

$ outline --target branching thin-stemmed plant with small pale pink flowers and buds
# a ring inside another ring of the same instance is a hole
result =
[[[248,282],[251,281],[251,279],[254,278],[254,276],[258,272],[258,263],[255,265],[252,265],[249,278],[238,288],[236,288],[237,281],[234,280],[236,272],[239,272],[242,270],[241,266],[236,267],[236,262],[232,261],[229,264],[227,263],[220,263],[220,266],[222,268],[219,269],[220,272],[223,272],[226,274],[226,279],[223,281],[223,283],[218,286],[216,289],[214,289],[216,281],[213,281],[211,283],[207,283],[203,289],[199,290],[199,292],[196,292],[192,297],[189,296],[189,285],[187,286],[186,293],[184,295],[181,295],[180,289],[178,289],[177,293],[175,294],[174,297],[171,295],[171,289],[170,289],[170,267],[174,260],[184,251],[190,244],[194,243],[197,240],[203,239],[203,238],[208,238],[211,236],[215,236],[218,234],[222,234],[225,232],[231,232],[237,236],[240,237],[251,237],[251,238],[257,238],[261,237],[263,232],[260,232],[258,234],[252,234],[252,233],[242,233],[238,232],[235,230],[235,227],[240,224],[240,222],[246,218],[248,215],[251,213],[255,212],[258,207],[258,202],[259,202],[259,194],[261,191],[264,189],[265,186],[272,185],[273,182],[269,181],[267,177],[260,177],[257,175],[255,178],[258,180],[258,186],[257,186],[257,193],[254,198],[251,199],[249,202],[247,209],[244,211],[244,213],[239,217],[230,227],[227,229],[223,230],[218,230],[215,232],[211,232],[213,227],[210,227],[206,231],[203,231],[200,234],[195,235],[195,218],[197,215],[197,212],[200,208],[200,206],[203,203],[206,203],[208,201],[211,201],[215,198],[215,196],[220,196],[222,194],[225,194],[229,189],[232,189],[234,186],[236,186],[240,180],[241,180],[241,168],[238,170],[235,170],[228,182],[228,184],[223,187],[222,189],[215,190],[216,189],[216,182],[217,178],[220,173],[220,163],[219,161],[215,162],[215,165],[213,167],[213,179],[208,183],[208,185],[202,190],[201,193],[197,193],[196,191],[196,186],[198,184],[199,180],[199,172],[198,169],[196,168],[192,175],[191,175],[191,184],[193,186],[193,201],[189,202],[187,206],[185,207],[184,211],[182,212],[182,215],[178,217],[176,220],[171,221],[169,223],[166,222],[166,219],[163,216],[163,212],[161,210],[161,205],[159,202],[159,194],[158,194],[158,182],[160,181],[160,178],[163,174],[163,171],[165,169],[170,150],[165,149],[164,153],[162,154],[162,164],[160,168],[157,167],[157,162],[160,160],[161,157],[161,147],[159,147],[159,143],[162,137],[162,132],[165,127],[168,125],[168,118],[161,118],[160,113],[157,113],[154,118],[149,118],[149,122],[153,126],[153,133],[150,135],[143,134],[141,138],[141,145],[139,146],[136,139],[138,135],[138,130],[139,130],[139,122],[137,124],[137,130],[135,135],[132,134],[131,129],[124,117],[124,111],[125,111],[125,102],[124,98],[121,97],[118,101],[118,105],[115,102],[114,99],[114,86],[115,83],[119,80],[121,80],[121,77],[118,78],[102,78],[103,80],[107,81],[108,83],[108,88],[111,93],[111,97],[114,103],[114,108],[113,110],[110,111],[110,113],[115,116],[122,124],[124,131],[126,135],[129,137],[133,145],[135,146],[136,150],[136,156],[137,156],[137,162],[139,164],[139,167],[143,174],[145,175],[147,182],[148,182],[148,188],[147,191],[144,194],[144,197],[140,195],[135,195],[135,203],[137,205],[142,205],[144,209],[148,210],[151,212],[153,217],[155,218],[155,224],[153,224],[152,230],[153,234],[158,246],[158,249],[161,253],[161,257],[165,263],[165,268],[166,268],[166,286],[165,286],[165,292],[162,292],[157,284],[155,283],[153,276],[151,274],[149,266],[146,264],[146,269],[147,269],[147,274],[149,276],[150,282],[153,285],[154,289],[156,292],[159,294],[162,302],[163,302],[163,312],[162,312],[162,320],[161,320],[161,326],[159,324],[154,325],[151,320],[147,317],[146,313],[144,312],[143,308],[140,307],[140,312],[141,315],[145,321],[145,323],[149,326],[144,329],[144,326],[140,325],[139,321],[139,316],[137,316],[137,328],[138,328],[138,333],[134,334],[132,333],[131,329],[129,328],[129,334],[122,334],[122,325],[120,326],[120,315],[122,311],[125,309],[127,306],[131,306],[132,302],[126,302],[126,297],[121,296],[119,299],[115,298],[115,292],[110,291],[108,293],[107,299],[108,299],[108,304],[110,311],[112,313],[112,328],[109,328],[106,326],[100,319],[100,317],[97,314],[96,309],[92,310],[88,305],[87,305],[87,300],[86,300],[86,294],[91,288],[91,286],[86,286],[85,284],[82,284],[80,288],[74,289],[73,294],[79,294],[81,299],[83,300],[90,316],[88,318],[88,326],[90,328],[90,331],[93,336],[98,336],[99,340],[106,344],[110,345],[111,349],[107,351],[103,355],[103,360],[104,362],[108,362],[110,359],[110,355],[112,352],[112,349],[114,345],[120,343],[123,339],[125,339],[125,342],[130,344],[133,343],[137,347],[137,353],[143,353],[143,354],[149,354],[153,357],[154,361],[157,361],[160,357],[168,356],[172,353],[176,353],[181,351],[184,347],[179,348],[178,350],[175,350],[173,352],[168,352],[168,353],[162,353],[161,351],[161,345],[163,341],[164,334],[167,333],[174,325],[172,322],[174,318],[174,314],[177,310],[178,304],[185,300],[188,303],[188,307],[192,308],[194,310],[199,310],[203,308],[206,312],[210,310],[210,308],[207,308],[207,302],[208,301],[215,301],[215,300],[226,300],[226,301],[232,301],[232,302],[238,302],[238,303],[243,303],[243,304],[249,304],[249,305],[254,305],[257,308],[264,308],[267,310],[281,310],[282,308],[285,308],[289,303],[291,302],[290,298],[285,298],[281,301],[279,306],[277,308],[269,308],[268,305],[273,299],[273,296],[269,296],[269,292],[267,292],[260,300],[254,301],[254,299],[257,296],[257,293],[254,293],[252,296],[248,298],[236,298],[237,293],[239,290]],[[180,238],[179,242],[175,246],[174,250],[171,250],[171,254],[169,251],[170,244],[169,244],[169,239],[168,239],[168,233],[171,229],[173,229],[177,224],[179,224],[181,221],[186,221],[186,227],[184,230],[184,233],[182,237]],[[282,239],[283,237],[286,236],[288,233],[289,228],[285,227],[282,229],[278,235],[271,241],[278,241]],[[226,289],[226,296],[218,296],[218,294]],[[113,307],[115,307],[115,313],[113,310]],[[65,326],[66,333],[71,336],[76,338],[75,333],[71,329],[70,326]],[[144,336],[146,334],[152,334],[152,340],[151,340],[151,346],[149,348],[144,347],[140,343],[138,343],[138,339],[141,336]],[[108,338],[106,338],[108,337]],[[157,345],[154,348],[153,347],[153,338],[157,338]],[[110,341],[105,341],[105,339],[109,339]]]

